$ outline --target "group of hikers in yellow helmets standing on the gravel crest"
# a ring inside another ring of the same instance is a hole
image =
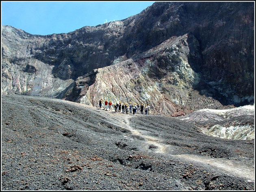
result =
[[[101,98],[99,101],[99,106],[100,109],[102,108],[102,104],[103,104],[103,99]],[[106,100],[104,102],[105,107],[103,107],[103,109],[105,109],[106,111],[112,110],[112,105],[114,106],[115,109],[115,113],[132,113],[133,115],[135,114],[144,114],[145,111],[145,115],[149,115],[150,114],[150,105],[146,104],[145,106],[143,105],[143,103],[139,104],[139,103],[135,103],[134,105],[130,104],[128,105],[127,103],[122,103],[121,101],[118,103],[116,102],[116,104],[112,104],[111,100],[108,102],[108,100]]]

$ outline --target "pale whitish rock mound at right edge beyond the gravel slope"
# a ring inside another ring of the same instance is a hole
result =
[[[255,105],[234,109],[201,109],[184,117],[185,122],[199,126],[207,135],[223,139],[252,140],[255,135]]]

